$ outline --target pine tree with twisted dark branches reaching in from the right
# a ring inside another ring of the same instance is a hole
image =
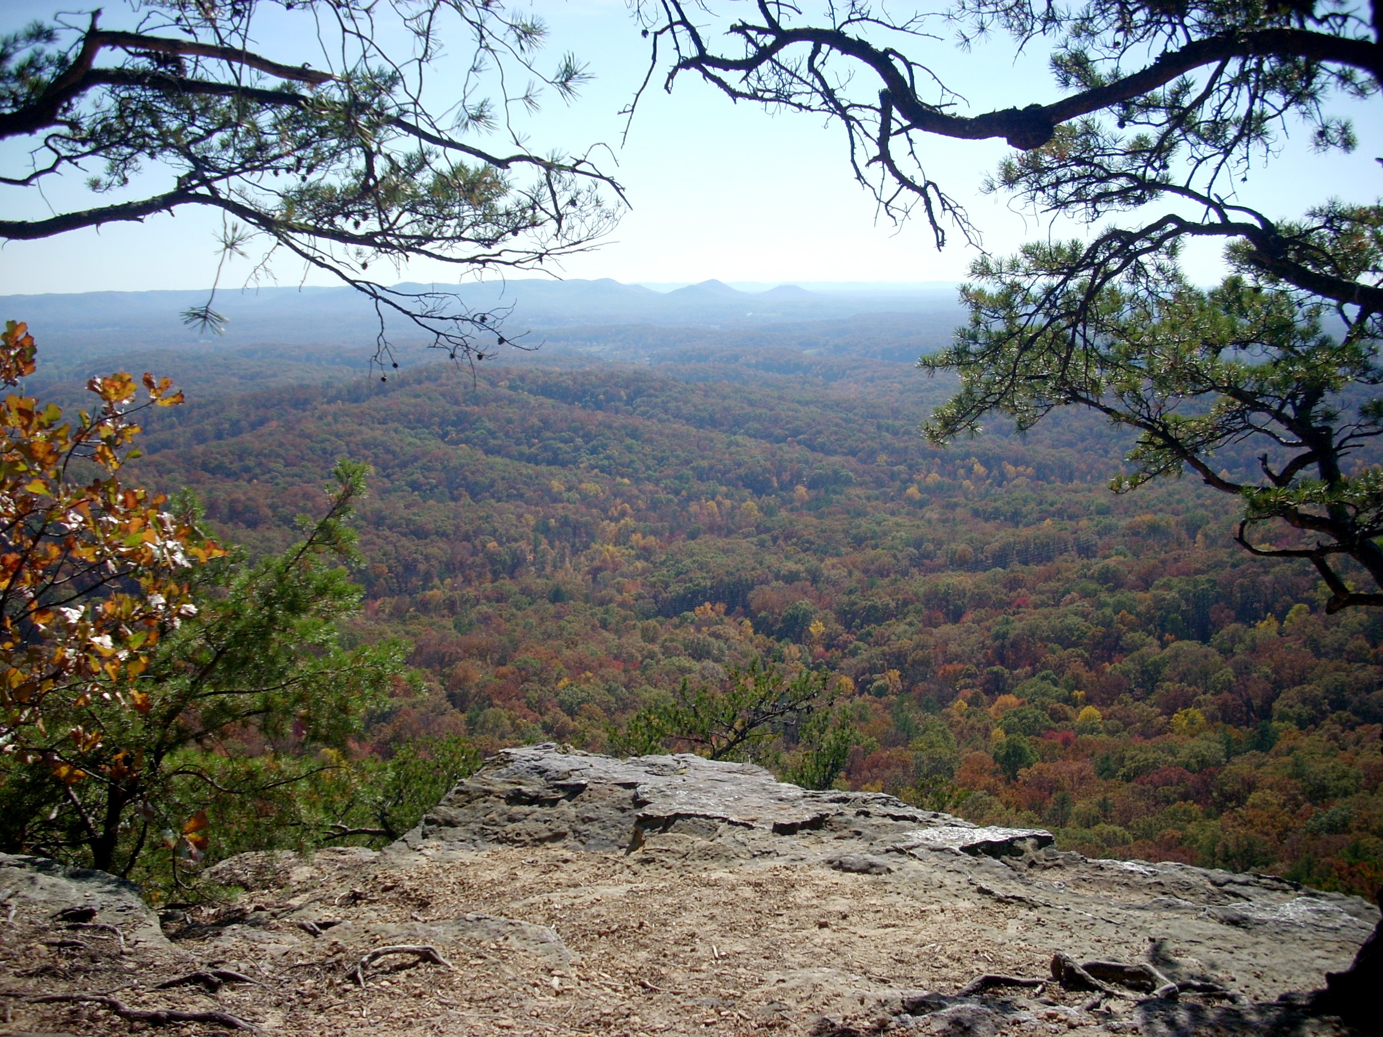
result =
[[[1361,463],[1383,433],[1383,207],[1361,196],[1277,216],[1254,209],[1245,184],[1256,166],[1288,160],[1282,142],[1296,129],[1318,151],[1350,152],[1347,113],[1377,119],[1383,25],[1372,11],[1253,0],[961,0],[902,15],[866,3],[638,4],[650,79],[664,71],[671,90],[697,76],[736,101],[824,115],[882,212],[920,212],[938,247],[949,230],[969,243],[982,235],[927,167],[927,138],[1015,148],[986,189],[1086,232],[975,260],[969,324],[924,361],[961,377],[928,434],[972,434],[996,412],[1030,427],[1058,407],[1099,411],[1138,433],[1135,474],[1116,489],[1189,471],[1239,498],[1238,542],[1308,560],[1332,610],[1383,606],[1383,481]],[[989,37],[1046,53],[1059,98],[1033,101],[1015,82],[1012,106],[958,113],[964,83],[943,66],[969,66],[939,47]],[[1205,239],[1224,242],[1229,268],[1214,289],[1180,265],[1185,243]],[[1224,478],[1221,451],[1249,442],[1260,470]]]

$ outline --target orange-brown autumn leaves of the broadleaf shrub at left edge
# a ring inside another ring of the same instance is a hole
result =
[[[14,387],[35,371],[33,336],[11,321],[0,343],[0,380]],[[94,697],[148,712],[137,679],[149,653],[196,613],[189,571],[225,553],[166,496],[120,481],[138,456],[133,416],[183,394],[145,375],[148,400],[134,405],[138,387],[123,372],[87,389],[100,407],[76,420],[15,393],[0,405],[0,737],[69,784],[86,777],[75,758],[105,733],[75,723],[54,745],[44,719],[94,716],[83,713]]]

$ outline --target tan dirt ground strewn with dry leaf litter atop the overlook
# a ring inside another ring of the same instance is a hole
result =
[[[260,859],[235,877],[249,886],[239,900],[171,921],[166,947],[120,955],[97,933],[68,946],[8,933],[7,993],[112,994],[303,1037],[867,1031],[902,1011],[899,991],[952,994],[981,973],[1047,976],[1061,939],[1021,903],[794,864],[689,871],[657,856],[532,848],[398,863],[337,850],[310,864]],[[365,969],[364,987],[347,976],[365,953],[397,944],[431,944],[447,964],[394,954]],[[1130,933],[1106,954],[1137,961],[1145,950]],[[152,989],[199,968],[249,982],[214,994]],[[1051,1004],[1032,1002],[1001,1029],[1108,1031],[1108,1016],[1080,1009],[1087,996],[1055,984],[1040,994]],[[145,1026],[97,1004],[18,998],[6,1025],[83,1037]]]

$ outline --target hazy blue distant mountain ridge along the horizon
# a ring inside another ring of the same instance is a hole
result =
[[[467,307],[499,311],[513,333],[577,325],[757,326],[773,322],[830,321],[855,315],[904,312],[958,315],[953,290],[920,286],[896,290],[810,292],[779,285],[741,292],[704,281],[671,292],[599,281],[517,279],[463,285],[397,286],[404,292],[444,290]],[[26,321],[50,357],[75,359],[129,348],[213,350],[259,344],[369,347],[379,330],[369,300],[350,288],[261,288],[221,290],[214,308],[227,318],[225,333],[210,336],[181,322],[180,314],[207,301],[205,290],[79,292],[0,296],[3,319]],[[419,342],[418,329],[394,318],[389,333],[401,343]]]

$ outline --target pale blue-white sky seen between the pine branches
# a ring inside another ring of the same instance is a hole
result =
[[[119,4],[106,3],[108,12]],[[683,79],[672,95],[644,95],[628,140],[621,142],[620,109],[647,68],[624,0],[538,0],[531,8],[550,28],[548,57],[573,51],[593,80],[566,105],[550,98],[528,127],[537,149],[582,148],[602,142],[597,156],[625,185],[631,210],[600,247],[550,268],[568,278],[610,277],[624,282],[676,285],[718,278],[726,282],[936,282],[961,281],[976,252],[956,241],[938,252],[931,234],[914,221],[902,230],[877,218],[873,199],[853,181],[842,133],[819,118],[769,113],[732,104],[711,87]],[[0,32],[72,4],[6,0]],[[108,15],[109,18],[111,15]],[[303,61],[299,36],[264,24],[260,48],[284,61]],[[969,111],[1054,100],[1058,94],[1040,55],[1015,61],[1001,46],[965,54],[950,41],[927,41],[929,59],[960,86]],[[445,90],[448,71],[440,87]],[[1355,111],[1361,148],[1351,156],[1314,155],[1299,140],[1242,188],[1270,214],[1299,213],[1332,195],[1383,195],[1383,123]],[[1372,115],[1372,113],[1369,113]],[[1377,124],[1375,124],[1377,123]],[[1304,131],[1297,137],[1304,137]],[[1015,212],[1003,196],[978,185],[1010,151],[1003,141],[934,138],[928,167],[961,199],[983,232],[987,250],[1003,253],[1048,234],[1066,236],[1070,225],[1051,227]],[[15,149],[0,149],[12,163]],[[0,212],[41,216],[47,205],[91,205],[76,181],[40,196],[33,189],[0,188]],[[0,249],[0,295],[201,289],[212,282],[220,217],[181,212],[144,224],[109,224],[41,242],[8,242]],[[1216,246],[1188,256],[1192,277],[1210,281],[1218,271]],[[242,283],[248,261],[227,271],[223,283]],[[301,270],[277,264],[278,283],[299,283]],[[415,263],[398,279],[455,281],[454,270]],[[314,272],[306,283],[331,283]]]

